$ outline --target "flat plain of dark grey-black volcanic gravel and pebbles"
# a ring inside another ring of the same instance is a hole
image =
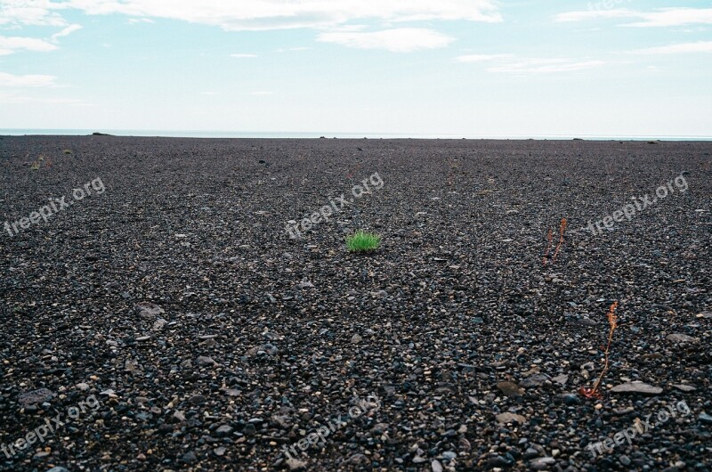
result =
[[[710,470],[710,152],[4,136],[0,465]]]

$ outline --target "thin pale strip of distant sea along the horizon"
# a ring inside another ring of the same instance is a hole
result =
[[[599,135],[516,135],[516,134],[417,134],[417,133],[284,133],[284,132],[245,132],[245,131],[175,131],[175,130],[142,130],[142,129],[10,129],[0,128],[0,135],[21,136],[25,134],[49,134],[81,136],[94,132],[113,134],[116,136],[164,136],[176,138],[326,138],[342,139],[550,139],[570,140],[574,138],[595,141],[712,141],[712,136],[599,136]]]

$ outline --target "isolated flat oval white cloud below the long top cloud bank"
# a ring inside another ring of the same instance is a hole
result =
[[[453,40],[433,29],[395,28],[371,33],[336,31],[321,33],[319,41],[359,49],[385,49],[392,53],[409,53],[418,49],[435,49]]]

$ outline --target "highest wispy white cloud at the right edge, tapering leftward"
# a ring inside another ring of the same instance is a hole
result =
[[[653,12],[636,12],[628,9],[589,10],[565,12],[554,17],[556,21],[582,21],[598,18],[637,18],[641,21],[627,23],[628,27],[669,27],[691,24],[712,24],[712,8],[659,8]]]

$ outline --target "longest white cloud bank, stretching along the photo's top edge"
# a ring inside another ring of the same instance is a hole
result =
[[[501,21],[496,0],[3,0],[0,24],[66,24],[55,10],[168,18],[229,30],[325,28],[352,20]]]

